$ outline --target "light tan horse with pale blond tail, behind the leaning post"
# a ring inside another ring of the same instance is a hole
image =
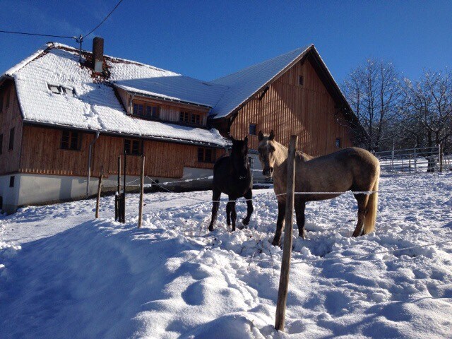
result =
[[[285,193],[287,187],[287,148],[275,141],[275,133],[269,136],[259,132],[258,152],[262,174],[273,177],[273,186],[278,198],[278,221],[272,244],[280,244],[285,217]],[[338,152],[311,157],[302,152],[295,155],[296,192],[345,192],[378,191],[380,177],[379,160],[362,148],[345,148]],[[282,195],[278,195],[282,194]],[[307,201],[335,198],[340,194],[295,195],[295,214],[299,237],[304,232],[304,209]],[[358,221],[353,237],[369,234],[374,230],[378,193],[354,194],[358,202]]]

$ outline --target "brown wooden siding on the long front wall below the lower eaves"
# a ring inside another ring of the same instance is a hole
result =
[[[88,173],[89,145],[94,133],[81,133],[81,150],[61,149],[61,130],[24,126],[20,172],[85,177]],[[118,155],[124,150],[124,138],[100,135],[93,147],[92,176],[117,174]],[[150,177],[181,178],[184,167],[212,169],[212,163],[198,162],[198,146],[143,141],[145,174]],[[217,149],[217,157],[224,153]],[[141,157],[127,156],[128,175],[140,174]]]

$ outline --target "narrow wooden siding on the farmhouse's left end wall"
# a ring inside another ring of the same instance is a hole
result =
[[[20,160],[20,143],[22,141],[22,115],[16,95],[16,86],[13,81],[8,81],[0,88],[3,97],[3,107],[0,107],[0,134],[3,134],[3,142],[0,154],[0,175],[18,172]],[[6,106],[9,95],[9,107]],[[9,134],[14,129],[14,147],[8,150]]]

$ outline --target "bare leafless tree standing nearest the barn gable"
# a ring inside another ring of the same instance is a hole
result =
[[[369,59],[350,73],[344,85],[345,96],[369,136],[365,146],[388,148],[402,99],[400,76],[393,64]]]

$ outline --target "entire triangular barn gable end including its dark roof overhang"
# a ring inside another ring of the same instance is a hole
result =
[[[254,150],[258,131],[272,129],[283,144],[297,134],[297,147],[311,155],[353,145],[359,124],[314,47],[289,66],[213,126],[228,126],[236,138],[248,135]]]

